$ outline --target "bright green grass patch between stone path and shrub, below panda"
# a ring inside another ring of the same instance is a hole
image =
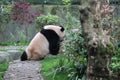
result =
[[[68,73],[65,71],[59,71],[58,66],[60,66],[59,61],[63,58],[63,56],[52,56],[47,57],[46,59],[41,61],[42,70],[41,74],[45,80],[68,80]]]

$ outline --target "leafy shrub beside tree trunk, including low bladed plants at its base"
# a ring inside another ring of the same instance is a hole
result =
[[[65,72],[68,80],[85,80],[87,67],[86,46],[81,37],[81,29],[69,29],[67,40],[65,41],[65,59],[61,59],[57,66],[56,73]],[[56,74],[57,75],[57,74]]]

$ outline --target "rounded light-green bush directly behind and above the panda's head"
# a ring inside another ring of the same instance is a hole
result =
[[[36,18],[36,23],[38,27],[42,28],[44,25],[48,24],[57,24],[58,23],[58,16],[51,15],[50,13],[47,15],[42,15]]]

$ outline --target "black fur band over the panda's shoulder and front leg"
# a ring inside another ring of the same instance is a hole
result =
[[[46,37],[49,42],[50,54],[57,55],[59,52],[60,38],[58,34],[51,29],[42,29],[41,33]]]

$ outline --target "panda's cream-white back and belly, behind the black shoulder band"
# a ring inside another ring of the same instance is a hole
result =
[[[49,43],[46,37],[38,32],[26,48],[28,54],[38,54],[40,57],[49,53]]]

